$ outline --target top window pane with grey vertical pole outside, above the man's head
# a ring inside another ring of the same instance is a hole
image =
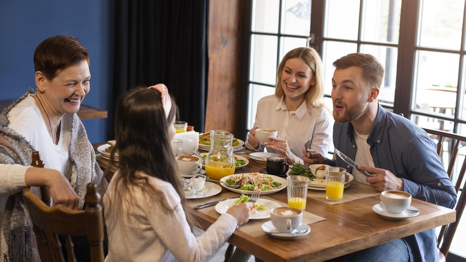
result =
[[[365,1],[361,38],[398,43],[401,0]]]

